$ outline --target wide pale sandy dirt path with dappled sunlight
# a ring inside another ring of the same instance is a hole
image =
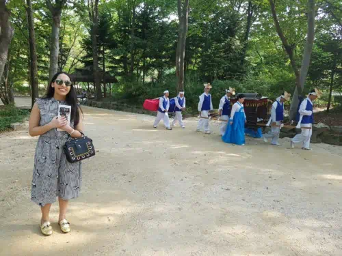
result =
[[[153,117],[84,107],[97,155],[83,163],[73,231],[38,229],[29,201],[37,138],[0,134],[0,255],[342,255],[342,148],[222,143],[152,128]]]

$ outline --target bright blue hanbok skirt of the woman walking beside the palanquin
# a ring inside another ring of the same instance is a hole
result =
[[[226,133],[222,136],[222,141],[242,145],[245,143],[245,114],[243,111],[236,112],[233,124],[228,122]]]

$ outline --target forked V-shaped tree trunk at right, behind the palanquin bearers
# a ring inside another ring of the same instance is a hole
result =
[[[301,69],[298,70],[297,63],[295,62],[295,56],[293,52],[293,47],[287,42],[284,33],[280,27],[278,17],[276,14],[276,7],[274,5],[275,0],[269,0],[269,5],[271,6],[272,16],[274,18],[274,24],[276,25],[276,31],[282,41],[282,45],[289,55],[291,62],[291,67],[295,74],[295,93],[293,94],[291,107],[290,107],[290,119],[295,119],[295,115],[298,109],[298,95],[302,95],[302,90],[304,89],[304,83],[306,80],[306,75],[308,73],[308,66],[310,64],[311,53],[313,50],[313,40],[315,38],[315,0],[308,0],[308,32],[306,38],[306,44],[304,48],[304,54],[302,59]]]

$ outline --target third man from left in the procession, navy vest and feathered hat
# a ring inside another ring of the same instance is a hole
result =
[[[200,112],[200,120],[198,121],[197,132],[202,130],[205,126],[205,133],[211,134],[209,128],[209,111],[213,110],[213,102],[211,102],[211,95],[209,94],[212,86],[210,83],[205,83],[205,92],[200,96],[200,102],[198,102],[198,112]]]

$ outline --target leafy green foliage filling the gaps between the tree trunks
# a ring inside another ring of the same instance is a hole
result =
[[[16,29],[10,50],[10,81],[16,91],[28,84],[29,51],[27,20],[22,1],[9,3]],[[161,96],[169,89],[176,96],[174,75],[178,34],[176,1],[100,1],[98,20],[98,66],[116,76],[114,98],[141,104],[146,98]],[[248,42],[248,4],[254,12]],[[298,65],[306,36],[307,1],[276,1],[280,25],[295,51]],[[317,0],[316,35],[305,90],[319,87],[342,91],[342,3]],[[134,16],[133,16],[134,14]],[[38,73],[46,85],[52,18],[44,1],[34,1]],[[92,40],[86,1],[68,1],[62,12],[59,66],[74,72],[92,66]],[[246,58],[241,65],[241,56]],[[133,61],[133,63],[131,63]],[[331,74],[334,70],[334,79]],[[274,100],[282,91],[293,94],[295,77],[289,58],[274,27],[268,0],[192,0],[185,48],[185,95],[188,109],[196,111],[202,83],[213,84],[213,104],[228,87],[237,91],[257,91]],[[90,86],[90,89],[92,87]],[[107,86],[107,95],[108,95]],[[334,97],[332,97],[334,100]]]

